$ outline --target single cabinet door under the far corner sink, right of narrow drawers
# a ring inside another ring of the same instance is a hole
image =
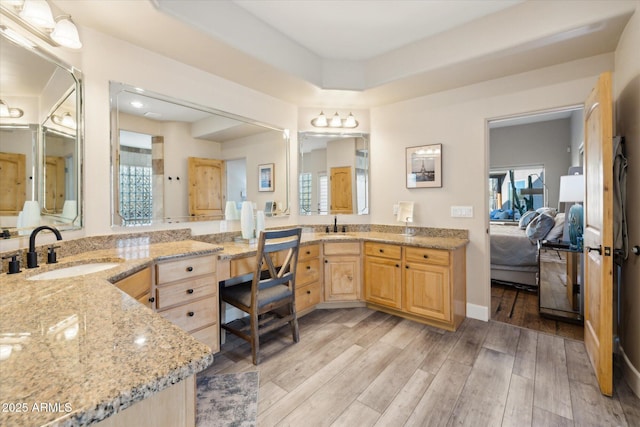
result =
[[[357,300],[360,289],[360,257],[325,257],[324,263],[325,301]]]

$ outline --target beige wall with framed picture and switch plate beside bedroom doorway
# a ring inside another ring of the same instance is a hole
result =
[[[468,316],[488,319],[491,306],[487,120],[583,103],[611,69],[613,55],[601,55],[371,110],[371,222],[395,224],[392,205],[413,200],[416,225],[468,229]],[[407,189],[405,147],[438,143],[442,188]],[[473,218],[451,218],[452,205]]]

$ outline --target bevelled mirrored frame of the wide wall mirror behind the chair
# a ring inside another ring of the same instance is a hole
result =
[[[200,104],[196,104],[190,101],[185,101],[183,99],[174,98],[172,96],[163,95],[157,92],[149,91],[143,89],[138,86],[129,85],[126,83],[109,81],[109,98],[110,98],[110,129],[111,129],[111,227],[148,227],[148,226],[157,226],[159,224],[169,224],[169,223],[191,223],[191,222],[206,222],[206,221],[221,221],[225,220],[224,217],[221,218],[201,218],[201,217],[172,217],[167,218],[163,217],[161,219],[152,219],[151,224],[125,224],[124,219],[120,216],[119,212],[117,212],[118,206],[118,192],[119,192],[119,171],[116,170],[117,159],[120,154],[120,141],[119,141],[119,133],[120,133],[120,124],[119,124],[119,107],[118,107],[118,94],[122,92],[138,94],[147,98],[153,98],[158,101],[169,102],[172,104],[180,105],[182,107],[192,108],[198,111],[206,112],[212,115],[217,115],[221,117],[225,117],[228,119],[236,120],[239,122],[247,123],[254,126],[260,126],[268,130],[273,130],[280,132],[283,136],[283,149],[285,151],[285,207],[281,210],[281,213],[278,214],[279,217],[286,217],[290,215],[291,202],[289,195],[289,185],[290,185],[290,168],[291,168],[291,159],[290,159],[290,143],[291,138],[288,129],[284,129],[281,127],[277,127],[274,125],[270,125],[264,122],[260,122],[258,120],[250,119],[244,116],[240,116],[237,114],[229,113],[227,111],[218,110],[213,107],[203,106]]]

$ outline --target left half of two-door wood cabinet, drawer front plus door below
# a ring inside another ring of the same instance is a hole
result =
[[[366,242],[364,253],[365,301],[402,308],[402,248]]]

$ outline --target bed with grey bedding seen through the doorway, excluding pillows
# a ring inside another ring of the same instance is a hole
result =
[[[518,223],[491,223],[491,280],[502,284],[537,287],[538,246]]]

